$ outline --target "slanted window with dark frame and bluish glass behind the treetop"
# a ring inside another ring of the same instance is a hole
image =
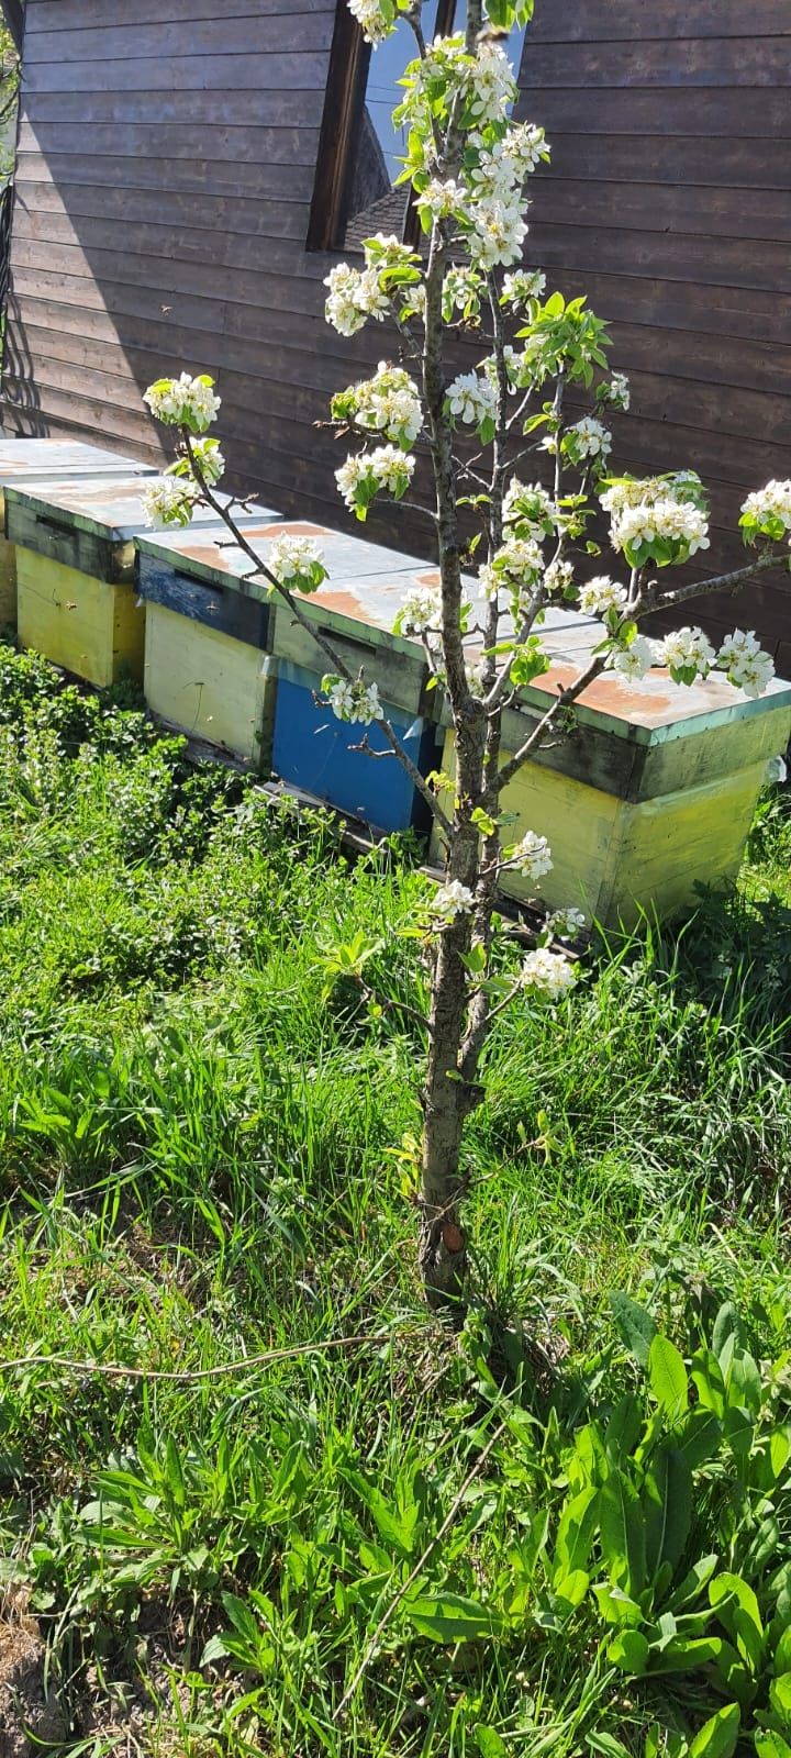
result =
[[[464,30],[466,0],[425,0],[424,32],[431,39]],[[512,32],[508,58],[522,62],[524,30]],[[415,56],[415,37],[401,19],[376,51],[364,42],[346,0],[339,0],[323,109],[318,176],[313,193],[309,250],[362,250],[371,232],[413,230],[410,192],[396,185],[404,141],[392,125],[401,98],[399,77]]]

